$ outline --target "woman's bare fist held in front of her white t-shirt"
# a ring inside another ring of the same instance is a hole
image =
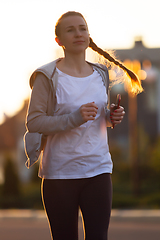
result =
[[[95,120],[98,107],[94,102],[84,104],[80,107],[80,114],[85,122]]]

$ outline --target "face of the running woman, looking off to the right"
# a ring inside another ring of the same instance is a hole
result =
[[[60,36],[56,41],[64,51],[78,53],[89,46],[89,33],[85,20],[80,16],[65,17],[60,23]]]

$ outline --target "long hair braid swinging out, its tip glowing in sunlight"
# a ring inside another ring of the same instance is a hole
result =
[[[131,79],[131,85],[132,85],[131,86],[131,92],[132,93],[138,94],[138,93],[143,91],[143,88],[141,86],[141,82],[140,82],[139,78],[136,76],[136,74],[133,71],[131,71],[130,69],[128,69],[127,67],[125,67],[120,61],[118,61],[114,57],[112,57],[108,52],[99,48],[93,42],[92,38],[90,38],[89,47],[92,48],[92,50],[98,52],[104,58],[108,59],[110,62],[113,62],[115,65],[119,66],[121,69],[123,69],[128,74],[128,76]]]

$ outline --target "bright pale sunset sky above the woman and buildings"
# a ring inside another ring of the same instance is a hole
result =
[[[30,96],[31,73],[55,59],[54,27],[63,13],[81,12],[101,48],[131,48],[139,36],[146,47],[156,48],[159,7],[159,0],[1,0],[0,124]]]

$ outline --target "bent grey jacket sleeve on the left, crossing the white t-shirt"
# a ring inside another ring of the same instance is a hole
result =
[[[52,135],[82,125],[84,120],[81,117],[80,109],[59,116],[47,115],[49,95],[51,94],[50,88],[48,79],[39,73],[34,82],[26,118],[28,131]]]

